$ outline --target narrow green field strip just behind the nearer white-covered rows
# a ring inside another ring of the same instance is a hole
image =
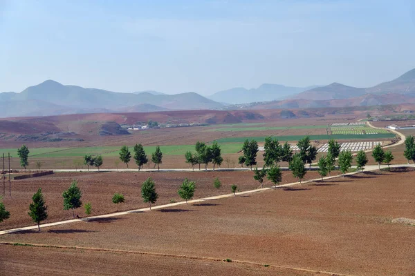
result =
[[[303,139],[305,135],[289,135],[289,136],[273,136],[273,138],[278,139],[279,141],[298,141],[299,139]],[[375,140],[375,139],[385,139],[385,138],[394,138],[395,135],[391,133],[385,134],[365,134],[365,135],[308,135],[310,139],[313,140],[329,140],[329,139],[336,139],[336,140],[350,140],[350,139],[367,139],[367,140]],[[221,143],[243,143],[246,139],[255,139],[257,142],[264,142],[265,136],[261,137],[228,137],[228,138],[221,138],[217,139],[216,141]]]

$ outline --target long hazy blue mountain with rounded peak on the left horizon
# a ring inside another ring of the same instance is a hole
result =
[[[0,106],[5,106],[5,109],[0,111],[0,116],[58,115],[68,114],[68,112],[97,112],[97,110],[111,112],[111,110],[122,110],[122,108],[127,110],[131,106],[142,104],[155,106],[154,111],[215,109],[223,106],[221,103],[216,103],[194,92],[176,95],[154,95],[151,92],[134,94],[64,86],[56,81],[48,80],[37,86],[30,86],[20,93],[1,93]],[[8,108],[8,106],[19,108]]]

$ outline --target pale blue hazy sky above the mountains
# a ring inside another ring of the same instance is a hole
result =
[[[414,2],[0,0],[0,91],[374,86],[415,68]]]

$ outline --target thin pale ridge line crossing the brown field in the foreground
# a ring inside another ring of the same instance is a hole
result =
[[[201,261],[210,261],[210,262],[227,262],[226,259],[215,258],[215,257],[201,257],[201,256],[187,256],[187,255],[176,255],[176,254],[167,254],[167,253],[154,253],[154,252],[147,252],[147,251],[132,251],[132,250],[122,250],[122,249],[110,249],[110,248],[95,248],[95,247],[83,247],[83,246],[59,246],[59,245],[51,245],[51,244],[19,244],[15,242],[0,242],[2,245],[6,246],[30,246],[30,247],[38,247],[38,248],[56,248],[56,249],[72,249],[72,250],[91,250],[91,251],[99,251],[99,252],[111,252],[111,253],[126,253],[126,254],[136,254],[136,255],[149,255],[155,257],[170,257],[176,259],[196,259]],[[250,261],[241,261],[237,259],[232,259],[232,263],[234,264],[250,264],[254,266],[264,266],[264,264],[259,262],[250,262]],[[296,271],[303,271],[308,273],[315,273],[315,274],[326,274],[326,275],[337,275],[337,276],[353,276],[349,274],[342,274],[342,273],[332,273],[329,271],[324,270],[313,270],[308,268],[296,268],[293,266],[281,266],[277,264],[269,264],[270,267],[275,268],[283,268],[289,270],[296,270]]]

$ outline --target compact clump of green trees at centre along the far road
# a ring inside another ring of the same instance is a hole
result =
[[[208,146],[205,142],[197,141],[194,146],[196,153],[187,151],[185,153],[186,163],[194,166],[199,164],[199,170],[201,170],[201,164],[205,164],[205,170],[208,170],[208,164],[212,162],[213,170],[215,166],[221,166],[223,158],[221,155],[221,147],[216,141],[213,142],[212,146]]]

